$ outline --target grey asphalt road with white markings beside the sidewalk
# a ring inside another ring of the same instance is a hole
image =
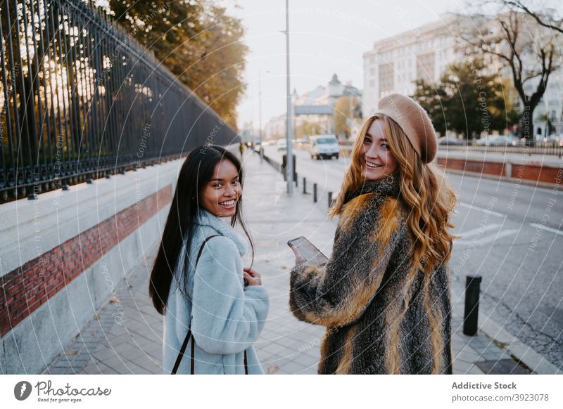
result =
[[[296,154],[298,191],[307,178],[320,201],[339,191],[348,158],[311,160]],[[283,152],[266,147],[279,160]],[[453,217],[452,287],[481,275],[480,311],[548,361],[563,365],[563,197],[558,188],[448,174],[460,206]]]

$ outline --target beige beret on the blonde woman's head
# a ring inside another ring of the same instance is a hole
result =
[[[387,115],[397,122],[422,162],[429,163],[434,160],[438,149],[436,132],[426,110],[415,100],[392,93],[379,100],[378,109],[374,113]]]

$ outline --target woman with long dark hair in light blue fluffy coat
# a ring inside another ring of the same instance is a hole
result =
[[[269,300],[234,231],[239,223],[254,254],[242,186],[241,162],[220,146],[196,148],[182,165],[148,287],[165,316],[165,373],[263,373],[252,344]]]

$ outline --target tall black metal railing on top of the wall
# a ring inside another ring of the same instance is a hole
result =
[[[84,1],[1,1],[0,58],[0,202],[236,142],[150,51]]]

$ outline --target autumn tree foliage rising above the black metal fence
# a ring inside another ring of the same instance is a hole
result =
[[[241,20],[214,0],[110,0],[127,32],[236,129],[248,47]]]

